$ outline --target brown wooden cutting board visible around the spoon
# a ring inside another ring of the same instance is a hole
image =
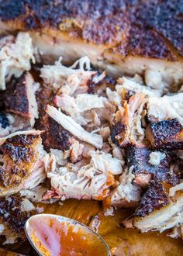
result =
[[[116,256],[183,255],[183,240],[181,239],[172,239],[166,234],[157,232],[140,234],[138,230],[124,229],[121,224],[126,217],[132,214],[129,209],[120,209],[116,211],[115,216],[104,216],[100,202],[74,199],[69,199],[62,204],[58,202],[53,204],[40,203],[38,206],[43,207],[43,213],[67,216],[85,223],[89,227],[98,227],[98,234],[104,237],[109,246],[111,248],[117,247]],[[18,251],[25,254],[23,247],[20,247]],[[13,256],[15,254],[1,254],[0,251],[0,255]]]

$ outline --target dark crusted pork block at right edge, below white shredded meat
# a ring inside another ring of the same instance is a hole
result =
[[[178,119],[168,119],[147,126],[146,137],[154,148],[183,148],[183,128]]]

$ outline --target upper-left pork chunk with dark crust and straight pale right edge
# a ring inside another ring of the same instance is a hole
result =
[[[12,79],[5,90],[4,103],[6,112],[28,119],[33,126],[38,118],[38,110],[33,87],[33,77],[29,72],[24,72],[20,78]]]

